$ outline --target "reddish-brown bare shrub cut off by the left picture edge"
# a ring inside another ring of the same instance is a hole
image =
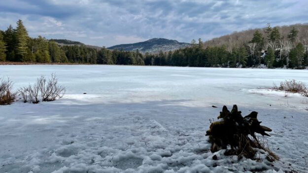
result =
[[[0,79],[0,105],[9,105],[16,99],[16,93],[12,92],[13,83],[9,80]]]

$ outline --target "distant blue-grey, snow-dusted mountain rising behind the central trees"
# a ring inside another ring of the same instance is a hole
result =
[[[165,38],[152,38],[147,41],[132,43],[132,44],[120,44],[111,46],[107,49],[123,49],[124,51],[136,51],[137,49],[141,53],[149,52],[149,53],[157,53],[159,51],[172,51],[179,48],[185,48],[190,46],[189,43],[181,43],[176,40],[169,40]]]

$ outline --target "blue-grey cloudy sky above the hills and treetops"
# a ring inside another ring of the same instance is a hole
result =
[[[0,0],[0,29],[97,46],[154,37],[190,42],[243,29],[308,23],[308,0]]]

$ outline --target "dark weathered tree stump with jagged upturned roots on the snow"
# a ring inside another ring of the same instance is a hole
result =
[[[242,156],[254,159],[255,148],[259,148],[269,153],[267,157],[269,161],[278,160],[274,153],[260,144],[255,135],[255,133],[259,133],[263,136],[270,136],[266,132],[272,131],[272,129],[260,125],[261,121],[258,121],[257,115],[258,113],[253,111],[242,117],[237,105],[233,105],[231,112],[224,106],[218,116],[219,120],[211,123],[205,134],[209,136],[209,141],[212,143],[211,151],[227,149],[225,155],[238,155],[239,159]],[[228,145],[231,146],[231,149],[227,148]]]

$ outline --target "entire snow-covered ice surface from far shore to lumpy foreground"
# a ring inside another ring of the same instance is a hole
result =
[[[308,70],[0,66],[15,89],[51,73],[68,87],[64,98],[0,106],[0,173],[308,172],[307,98],[268,89],[285,79],[308,83]],[[273,129],[265,140],[280,161],[209,151],[209,119],[233,104]]]

